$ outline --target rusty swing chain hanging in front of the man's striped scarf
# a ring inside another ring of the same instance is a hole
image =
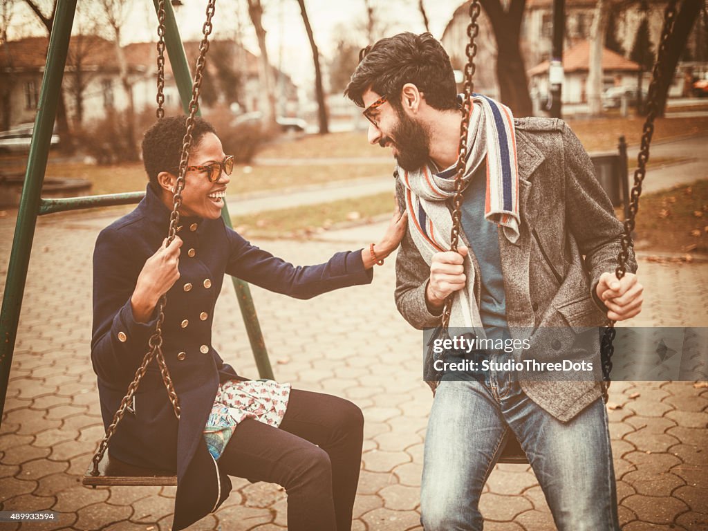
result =
[[[467,64],[464,65],[464,101],[462,103],[462,124],[459,132],[459,156],[457,158],[457,173],[455,174],[455,197],[452,199],[454,205],[452,209],[452,229],[450,231],[450,250],[457,251],[459,244],[460,218],[462,217],[462,185],[464,183],[464,171],[467,161],[467,135],[469,132],[469,115],[472,113],[472,93],[474,92],[474,72],[476,66],[474,58],[477,54],[476,38],[479,35],[479,24],[477,18],[481,12],[479,0],[472,0],[469,3],[469,24],[467,25],[467,37],[469,42],[464,47],[467,55]],[[448,295],[445,299],[445,307],[442,309],[442,329],[447,331],[450,324],[450,314],[452,312],[453,295]]]

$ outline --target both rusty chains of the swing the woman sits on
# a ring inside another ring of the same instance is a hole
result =
[[[204,67],[206,64],[206,54],[207,51],[209,50],[209,35],[212,33],[212,17],[214,16],[215,13],[215,4],[216,0],[209,0],[207,4],[207,19],[202,26],[202,34],[203,38],[202,41],[200,42],[199,45],[199,57],[197,59],[197,67],[195,69],[195,76],[194,76],[194,83],[192,86],[192,99],[189,102],[189,115],[187,116],[187,119],[185,121],[186,124],[186,132],[184,135],[183,143],[182,143],[182,153],[181,153],[181,160],[180,160],[180,166],[179,166],[179,176],[176,181],[176,186],[175,186],[175,193],[173,196],[173,208],[172,208],[172,213],[170,215],[170,226],[169,226],[169,233],[167,236],[167,243],[166,246],[169,246],[173,239],[175,239],[177,235],[177,225],[179,222],[179,212],[178,209],[182,205],[182,190],[184,188],[184,183],[185,183],[185,173],[187,169],[187,159],[189,157],[189,151],[190,147],[192,144],[192,130],[194,127],[194,119],[197,114],[197,111],[199,110],[199,96],[201,93],[201,86],[202,86],[202,79],[203,79],[203,72],[204,72]],[[158,34],[162,33],[160,35],[161,40],[163,40],[163,46],[162,46],[162,51],[164,52],[164,0],[160,1],[159,9],[162,9],[161,13],[158,13],[158,18],[160,19],[160,27],[161,30],[158,30]],[[158,54],[160,54],[160,45],[158,43]],[[161,80],[160,80],[161,78]],[[157,110],[157,118],[162,118],[164,116],[164,110],[161,108],[161,99],[164,101],[164,96],[161,94],[161,89],[164,87],[164,57],[162,57],[162,62],[160,62],[160,59],[158,58],[158,110]],[[162,96],[162,98],[161,98]],[[159,303],[158,303],[158,316],[157,316],[157,323],[155,325],[155,332],[153,335],[150,337],[148,341],[148,345],[150,347],[150,350],[147,354],[144,355],[144,358],[142,360],[142,364],[138,367],[137,371],[135,372],[135,378],[133,379],[132,382],[130,382],[130,385],[128,386],[127,394],[123,397],[122,401],[120,401],[120,406],[118,407],[118,411],[115,412],[115,415],[113,416],[113,422],[108,426],[108,429],[105,431],[105,437],[103,440],[101,440],[101,443],[98,445],[98,450],[96,451],[96,454],[93,455],[93,469],[91,469],[91,475],[92,476],[98,476],[100,474],[98,470],[98,464],[101,463],[101,459],[103,459],[103,455],[105,454],[105,450],[108,448],[108,442],[110,441],[110,438],[113,437],[113,433],[115,433],[115,428],[118,426],[118,423],[121,421],[123,416],[125,416],[125,411],[127,410],[128,404],[130,404],[130,401],[132,401],[133,396],[135,396],[135,392],[137,391],[137,388],[140,384],[140,381],[142,380],[142,377],[144,377],[145,372],[147,370],[147,366],[149,365],[150,362],[152,362],[153,358],[157,360],[157,363],[160,367],[160,373],[162,376],[162,381],[165,384],[165,387],[167,389],[167,396],[169,397],[169,400],[172,404],[172,409],[177,416],[177,418],[180,417],[181,409],[179,406],[179,398],[177,396],[177,392],[175,391],[174,384],[172,382],[172,379],[170,377],[169,369],[167,367],[167,364],[164,359],[164,355],[162,353],[162,324],[164,323],[165,320],[165,307],[167,304],[167,297],[166,295],[162,295],[160,297]]]

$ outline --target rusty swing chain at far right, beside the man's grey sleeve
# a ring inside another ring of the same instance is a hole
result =
[[[666,57],[668,47],[668,39],[673,33],[673,25],[676,19],[676,0],[670,0],[664,11],[664,24],[661,30],[661,40],[659,42],[658,52],[656,54],[656,62],[654,62],[653,71],[651,74],[651,83],[649,84],[649,93],[647,93],[646,103],[648,113],[644,121],[644,127],[641,134],[641,144],[639,154],[637,155],[637,168],[634,170],[634,185],[632,192],[629,194],[629,215],[624,220],[624,233],[622,234],[622,250],[619,251],[617,269],[615,275],[617,279],[622,279],[627,274],[627,258],[629,258],[629,248],[632,247],[632,231],[636,221],[636,213],[639,211],[639,196],[641,195],[641,183],[644,182],[646,176],[646,163],[649,161],[649,146],[651,137],[654,132],[654,118],[658,109],[656,108],[656,91],[659,81],[661,81],[661,72],[663,69],[663,59]],[[615,353],[615,347],[612,346],[612,341],[617,336],[615,330],[615,321],[608,321],[603,340],[601,344],[602,368],[603,368],[603,400],[607,404],[609,396],[607,394],[610,389],[610,373],[612,372],[612,354]]]

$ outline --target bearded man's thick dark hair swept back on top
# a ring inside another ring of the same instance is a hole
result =
[[[438,110],[457,108],[455,73],[450,57],[430,33],[399,33],[367,46],[344,95],[364,106],[363,94],[371,89],[386,95],[394,108],[401,108],[401,90],[406,83],[418,87],[426,103]]]

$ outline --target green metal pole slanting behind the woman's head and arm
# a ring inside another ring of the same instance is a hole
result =
[[[157,11],[158,1],[153,0],[153,3]],[[188,113],[189,102],[192,98],[192,74],[190,74],[187,55],[185,54],[174,11],[169,1],[165,2],[165,47],[172,65],[172,74],[177,84],[177,90],[182,100],[182,108],[185,113]],[[232,228],[229,209],[225,201],[222,209],[222,218],[224,218],[224,223],[226,223],[227,227]],[[273,367],[270,365],[270,359],[268,358],[268,350],[266,350],[265,341],[263,341],[261,324],[258,323],[256,306],[253,304],[253,298],[251,297],[251,288],[247,282],[236,277],[232,277],[232,282],[234,282],[234,289],[236,290],[236,299],[239,301],[241,317],[244,319],[246,332],[249,334],[249,342],[251,343],[253,358],[256,360],[256,367],[258,367],[258,375],[261,378],[275,379]]]

